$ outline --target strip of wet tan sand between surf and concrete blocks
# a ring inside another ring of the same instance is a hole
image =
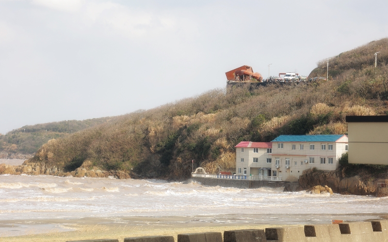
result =
[[[388,219],[387,214],[217,214],[204,216],[144,216],[113,218],[70,218],[0,221],[0,242],[70,241],[125,237],[221,232],[234,229],[329,224],[332,219],[347,222]],[[22,234],[22,235],[20,235]],[[18,236],[17,236],[18,235]]]

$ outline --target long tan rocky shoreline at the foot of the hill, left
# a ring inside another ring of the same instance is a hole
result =
[[[28,163],[25,162],[21,166],[12,166],[6,164],[0,164],[0,175],[1,174],[10,174],[10,175],[52,175],[60,177],[95,177],[95,178],[107,178],[114,177],[117,179],[130,179],[137,178],[136,174],[132,171],[121,171],[121,170],[111,170],[111,171],[102,171],[98,168],[83,168],[79,167],[71,172],[64,172],[61,168],[57,166],[47,166],[44,162],[41,163]]]

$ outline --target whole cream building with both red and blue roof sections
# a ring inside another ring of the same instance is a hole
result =
[[[335,170],[347,150],[345,135],[282,135],[271,143],[242,141],[236,146],[236,175],[298,181],[309,168]]]

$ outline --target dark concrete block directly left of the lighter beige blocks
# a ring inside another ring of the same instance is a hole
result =
[[[266,242],[264,229],[224,231],[224,242]]]

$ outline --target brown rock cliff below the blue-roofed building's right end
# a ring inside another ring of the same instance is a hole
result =
[[[387,180],[388,181],[388,180]],[[299,177],[299,186],[302,190],[316,185],[330,187],[334,193],[344,195],[376,195],[377,182],[386,182],[385,179],[362,181],[359,176],[342,178],[337,171],[306,170]]]

